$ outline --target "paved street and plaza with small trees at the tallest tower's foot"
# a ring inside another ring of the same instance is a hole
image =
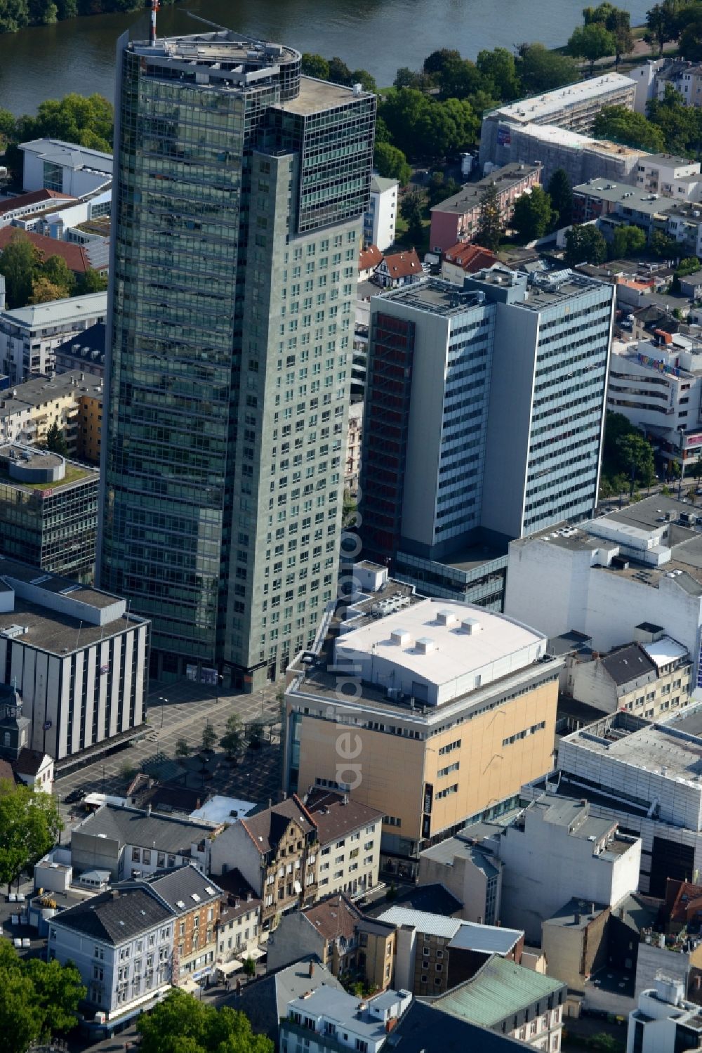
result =
[[[148,718],[145,736],[117,753],[100,757],[67,775],[57,773],[55,794],[59,798],[66,828],[82,818],[79,807],[65,804],[72,790],[104,792],[122,795],[128,784],[126,769],[140,771],[144,762],[157,755],[175,758],[176,743],[184,738],[193,756],[178,760],[186,770],[185,784],[207,787],[212,793],[228,794],[246,800],[274,800],[281,789],[280,777],[280,702],[277,696],[282,683],[269,684],[255,695],[220,695],[217,699],[202,684],[185,680],[167,688],[157,688],[148,696]],[[200,756],[202,731],[209,723],[221,738],[228,717],[238,714],[242,724],[262,721],[266,724],[265,742],[260,750],[247,750],[239,764],[230,764],[219,746],[208,759],[206,769]],[[268,727],[269,724],[269,727]],[[73,818],[72,818],[73,815]],[[66,829],[64,842],[69,837]]]

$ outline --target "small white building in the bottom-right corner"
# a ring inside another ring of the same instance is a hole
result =
[[[626,1053],[678,1053],[699,1049],[700,1042],[700,1007],[684,1000],[681,980],[658,976],[655,988],[642,991],[629,1013]]]

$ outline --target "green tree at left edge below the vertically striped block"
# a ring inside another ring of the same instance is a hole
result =
[[[61,830],[51,794],[0,779],[0,885],[9,890],[56,843]]]

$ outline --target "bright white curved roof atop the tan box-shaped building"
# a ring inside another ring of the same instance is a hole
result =
[[[438,616],[443,615],[453,616],[454,624],[441,624]],[[461,628],[465,619],[477,622],[475,632],[468,634]],[[401,643],[390,636],[398,631],[406,634]],[[418,641],[422,641],[421,649]],[[545,642],[542,633],[483,607],[425,599],[345,633],[336,643],[336,654],[376,655],[418,674],[421,680],[442,684],[518,653],[515,670],[521,669],[526,664],[524,650],[539,643],[545,648]]]

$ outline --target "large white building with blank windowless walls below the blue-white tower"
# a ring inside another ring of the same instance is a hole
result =
[[[697,671],[701,556],[690,505],[646,498],[579,528],[513,541],[505,612],[548,637],[575,629],[600,652],[638,639],[648,622],[684,647]]]

